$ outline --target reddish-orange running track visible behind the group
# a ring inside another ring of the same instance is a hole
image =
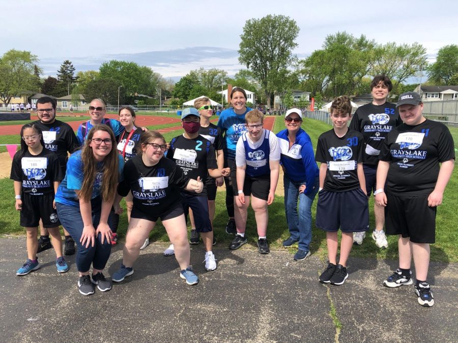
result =
[[[59,114],[57,119],[59,120]],[[119,116],[117,114],[105,114],[106,118],[118,119]],[[38,120],[36,115],[31,115],[31,121]],[[218,119],[213,119],[212,121],[217,121]],[[25,121],[25,120],[24,120]],[[73,130],[77,130],[79,124],[86,120],[76,120],[76,121],[69,121],[68,124],[72,127]],[[180,118],[177,116],[174,117],[162,117],[162,116],[153,116],[153,115],[137,115],[135,119],[135,123],[137,126],[151,126],[151,125],[160,125],[160,124],[170,124],[174,122],[180,122]],[[268,116],[264,118],[264,128],[267,130],[272,130],[273,125],[275,122],[274,116]],[[0,135],[19,135],[21,132],[22,125],[5,125],[0,126]],[[174,126],[171,128],[160,129],[160,133],[166,133],[170,131],[180,130],[182,129],[181,125]]]

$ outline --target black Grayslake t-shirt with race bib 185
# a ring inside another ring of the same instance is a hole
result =
[[[11,179],[22,182],[22,193],[43,195],[54,193],[54,181],[64,178],[57,155],[46,149],[38,155],[31,154],[28,149],[20,157],[16,152],[11,165]]]

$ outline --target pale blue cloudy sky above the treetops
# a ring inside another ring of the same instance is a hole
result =
[[[237,50],[245,21],[282,14],[300,27],[295,53],[320,49],[327,35],[347,31],[378,43],[419,42],[434,60],[457,44],[458,1],[58,1],[0,0],[4,33],[0,53],[29,50],[45,75],[63,60],[77,71],[97,70],[109,59],[133,60],[164,77],[200,67],[243,68]]]

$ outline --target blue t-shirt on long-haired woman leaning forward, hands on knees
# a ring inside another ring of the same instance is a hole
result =
[[[122,155],[118,155],[118,169],[119,169],[119,181],[122,179],[122,171],[124,168],[124,159]],[[103,162],[97,163],[97,174],[94,180],[94,187],[91,195],[91,199],[98,197],[101,193],[102,177],[103,177]],[[64,180],[59,185],[58,191],[55,194],[55,202],[79,207],[79,199],[75,193],[75,190],[80,190],[82,186],[84,175],[83,175],[83,163],[81,160],[81,150],[73,153],[67,162],[67,173],[65,174]]]

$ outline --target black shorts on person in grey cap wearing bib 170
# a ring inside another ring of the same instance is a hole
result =
[[[436,209],[428,206],[428,195],[397,197],[386,193],[385,231],[410,237],[414,243],[436,241]]]

